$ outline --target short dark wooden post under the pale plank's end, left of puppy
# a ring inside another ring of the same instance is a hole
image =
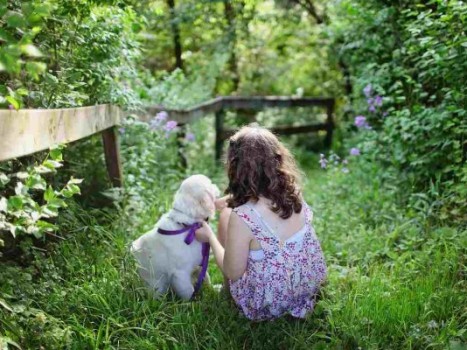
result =
[[[102,132],[104,142],[105,164],[110,181],[114,187],[123,187],[122,164],[118,144],[117,127],[111,127]]]

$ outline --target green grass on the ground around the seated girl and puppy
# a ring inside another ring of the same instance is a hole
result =
[[[465,348],[466,232],[398,208],[371,169],[326,173],[297,156],[330,273],[307,319],[249,322],[210,287],[195,302],[150,299],[128,244],[170,203],[162,183],[138,217],[72,205],[66,240],[2,265],[0,335],[25,349]],[[210,274],[222,281],[214,263]]]

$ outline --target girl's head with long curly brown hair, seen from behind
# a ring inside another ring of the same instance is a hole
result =
[[[243,127],[230,138],[227,173],[230,207],[257,201],[262,196],[271,201],[271,209],[284,219],[302,210],[300,173],[295,160],[265,128]]]

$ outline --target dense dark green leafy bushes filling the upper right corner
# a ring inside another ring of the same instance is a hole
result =
[[[335,48],[351,67],[357,111],[373,129],[359,135],[369,159],[383,172],[397,169],[402,192],[442,196],[441,215],[461,218],[467,5],[347,0],[336,8]],[[372,107],[376,95],[384,97],[383,114]]]

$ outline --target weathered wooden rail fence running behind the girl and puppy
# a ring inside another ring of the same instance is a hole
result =
[[[153,106],[147,108],[147,114],[140,117],[143,120],[148,120],[157,112],[167,111],[170,119],[176,120],[183,126],[207,114],[214,113],[215,150],[216,159],[219,159],[223,141],[235,132],[233,129],[224,128],[226,110],[314,106],[326,109],[327,118],[324,123],[281,126],[272,128],[272,130],[282,135],[325,130],[325,145],[329,146],[332,142],[334,129],[334,99],[332,98],[228,96],[218,97],[189,109],[167,109],[162,106]],[[49,149],[56,144],[73,142],[101,132],[109,177],[114,186],[122,186],[123,176],[117,126],[120,124],[123,113],[119,107],[112,105],[67,109],[0,110],[0,161],[26,156]]]

